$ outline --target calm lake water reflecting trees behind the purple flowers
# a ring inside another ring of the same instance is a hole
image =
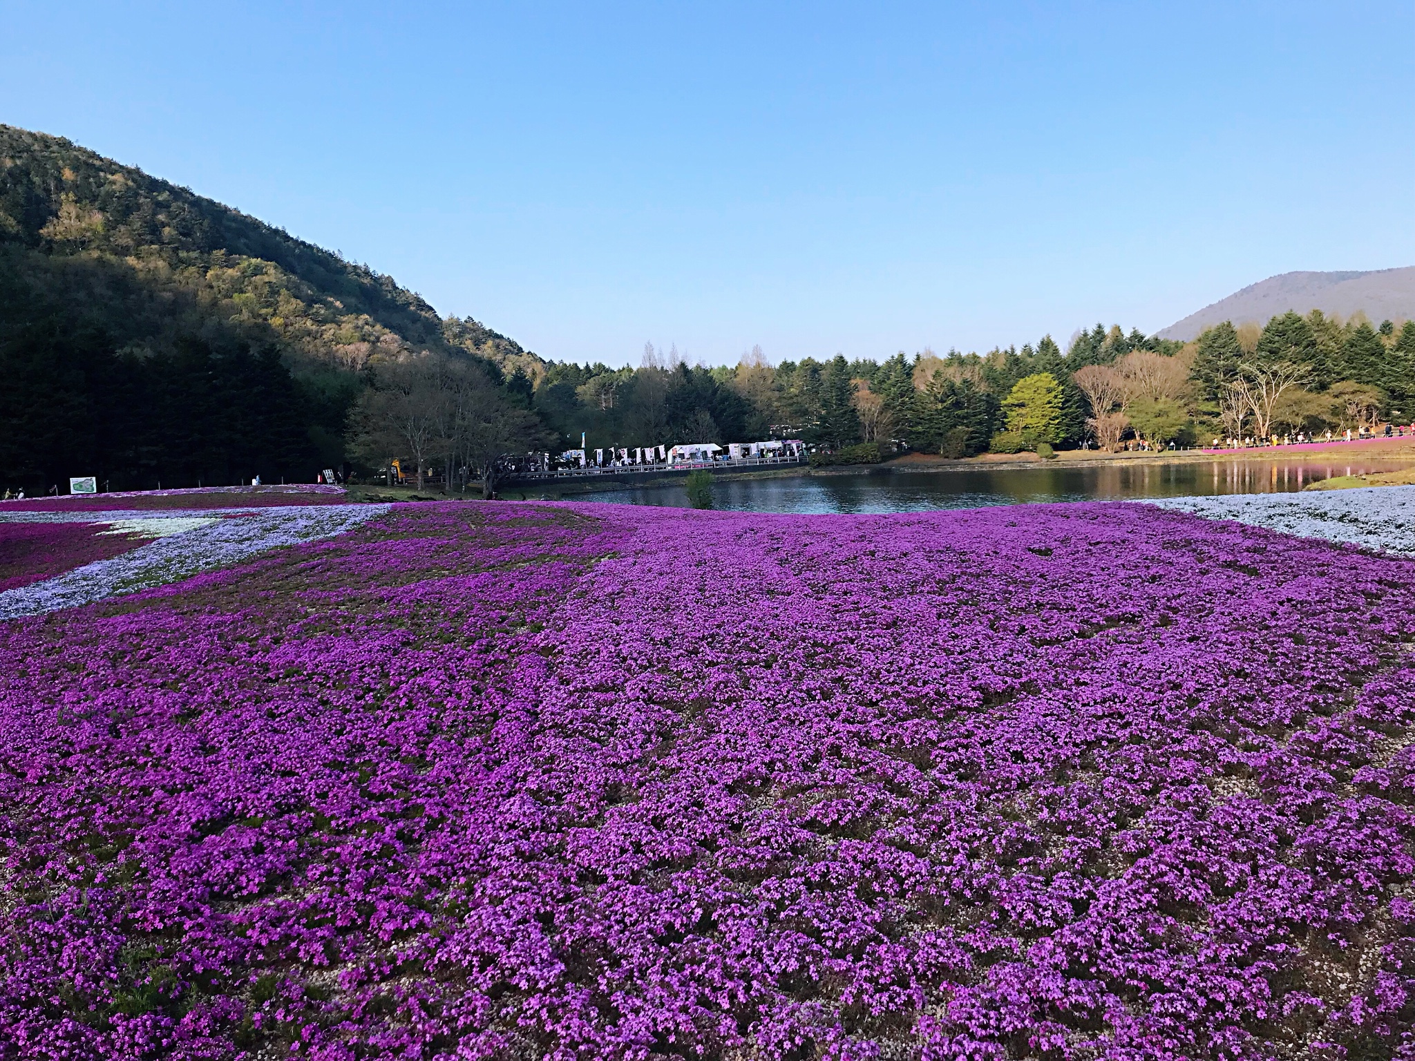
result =
[[[1333,475],[1397,471],[1409,461],[1215,460],[1184,464],[1047,464],[1034,468],[972,465],[947,471],[874,471],[719,481],[713,506],[737,512],[918,512],[1033,501],[1121,501],[1194,494],[1268,494],[1302,489]],[[606,489],[577,501],[686,508],[682,485]]]

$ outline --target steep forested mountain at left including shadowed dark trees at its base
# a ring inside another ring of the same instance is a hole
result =
[[[344,460],[379,364],[480,365],[524,392],[542,362],[474,320],[187,188],[0,126],[0,467],[31,489]]]

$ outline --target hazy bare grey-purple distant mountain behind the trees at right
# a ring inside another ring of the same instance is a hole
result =
[[[1165,340],[1189,341],[1204,328],[1232,321],[1266,324],[1271,317],[1296,310],[1337,313],[1350,317],[1363,310],[1373,323],[1415,318],[1415,266],[1343,273],[1282,273],[1244,287],[1162,332]]]

